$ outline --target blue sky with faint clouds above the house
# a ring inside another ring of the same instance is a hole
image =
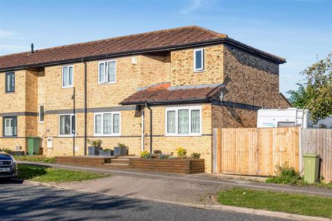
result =
[[[0,55],[190,25],[286,58],[283,93],[332,51],[332,0],[0,0]]]

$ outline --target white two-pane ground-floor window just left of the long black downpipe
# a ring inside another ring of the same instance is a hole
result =
[[[59,135],[62,137],[76,135],[76,115],[59,115]]]

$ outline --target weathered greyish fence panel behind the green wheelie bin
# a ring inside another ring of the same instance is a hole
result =
[[[324,176],[324,180],[332,181],[332,130],[302,129],[301,134],[302,155],[319,154],[322,159],[320,173]]]

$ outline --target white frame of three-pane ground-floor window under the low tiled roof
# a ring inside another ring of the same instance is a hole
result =
[[[178,111],[189,110],[189,133],[178,133]],[[199,133],[192,133],[192,111],[199,111]],[[167,111],[175,111],[175,133],[167,133]],[[202,135],[202,106],[176,106],[165,108],[165,136],[188,137]]]

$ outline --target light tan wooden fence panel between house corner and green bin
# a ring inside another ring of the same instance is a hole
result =
[[[273,175],[288,162],[299,169],[299,128],[214,128],[215,173]]]

